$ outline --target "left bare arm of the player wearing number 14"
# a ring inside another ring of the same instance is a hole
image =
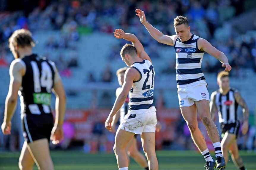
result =
[[[26,71],[24,65],[17,61],[19,61],[19,59],[12,61],[10,65],[10,85],[5,100],[4,122],[1,126],[4,135],[9,135],[11,133],[11,119],[16,108],[22,76]]]

